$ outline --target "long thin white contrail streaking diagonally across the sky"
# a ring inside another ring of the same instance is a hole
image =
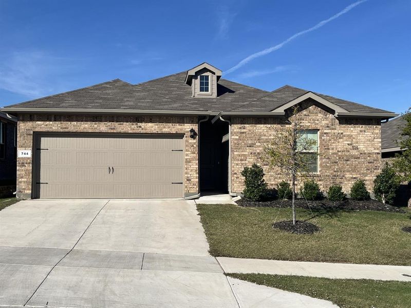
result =
[[[273,51],[275,51],[275,50],[278,50],[278,49],[282,48],[284,45],[286,45],[287,43],[291,42],[292,40],[294,40],[294,39],[297,38],[298,36],[301,36],[301,35],[303,35],[303,34],[306,34],[306,33],[308,33],[308,32],[314,31],[314,30],[316,30],[316,29],[319,29],[319,28],[325,26],[325,25],[328,24],[329,22],[337,19],[338,17],[340,17],[341,15],[343,15],[343,14],[345,14],[345,13],[348,13],[348,12],[349,12],[350,10],[352,10],[354,7],[356,7],[356,6],[362,4],[363,2],[366,2],[366,1],[368,1],[368,0],[360,0],[360,1],[354,2],[354,3],[350,4],[349,6],[347,6],[345,9],[343,9],[342,11],[340,11],[340,12],[338,12],[337,14],[335,14],[335,15],[327,18],[326,20],[323,20],[323,21],[319,22],[319,23],[316,24],[315,26],[313,26],[313,27],[311,27],[311,28],[308,28],[308,29],[306,29],[306,30],[303,30],[303,31],[300,31],[300,32],[295,33],[294,35],[292,35],[292,36],[290,36],[289,38],[287,38],[287,40],[285,40],[284,42],[279,43],[279,44],[277,44],[277,45],[275,45],[275,46],[272,46],[272,47],[270,47],[270,48],[267,48],[267,49],[264,49],[264,50],[261,50],[261,51],[258,51],[258,52],[256,52],[256,53],[253,53],[253,54],[249,55],[249,56],[246,57],[245,59],[241,60],[237,65],[235,65],[235,66],[233,66],[232,68],[230,68],[229,70],[225,71],[225,74],[229,74],[229,73],[231,73],[231,72],[239,69],[241,66],[246,65],[246,64],[249,63],[250,61],[252,61],[252,60],[254,60],[254,59],[256,59],[256,58],[258,58],[258,57],[260,57],[260,56],[269,54],[269,53],[271,53],[271,52],[273,52]]]

